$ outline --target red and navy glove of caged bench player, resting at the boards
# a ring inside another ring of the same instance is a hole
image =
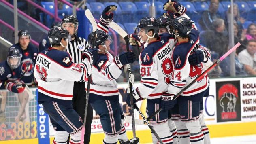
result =
[[[13,93],[22,93],[25,90],[25,83],[21,80],[16,80],[14,82],[9,82],[6,85],[6,89]]]

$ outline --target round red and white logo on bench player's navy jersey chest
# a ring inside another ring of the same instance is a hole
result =
[[[23,59],[23,61],[21,61],[21,70],[24,76],[30,76],[34,70],[34,62],[32,59]]]

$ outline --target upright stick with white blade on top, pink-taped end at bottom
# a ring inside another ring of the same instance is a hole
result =
[[[89,19],[90,23],[92,24],[92,31],[94,32],[93,33],[92,48],[94,48],[95,40],[96,40],[97,23],[96,23],[93,15],[92,15],[92,13],[89,9],[85,10],[84,14],[87,17],[87,19]],[[86,124],[86,117],[87,117],[87,109],[88,109],[88,102],[89,102],[89,93],[90,93],[91,80],[92,80],[92,74],[90,74],[90,76],[88,77],[85,113],[84,113],[84,119],[83,119],[83,127],[82,127],[82,134],[81,134],[80,144],[83,144],[83,142],[84,142],[85,124]]]

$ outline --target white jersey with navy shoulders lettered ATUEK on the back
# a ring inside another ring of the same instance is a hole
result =
[[[84,81],[91,73],[88,59],[76,64],[68,52],[51,47],[40,52],[34,69],[34,77],[38,81],[38,101],[43,100],[45,95],[53,99],[72,100],[74,81]]]

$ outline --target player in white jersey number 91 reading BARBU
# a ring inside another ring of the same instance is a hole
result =
[[[161,95],[162,92],[166,91],[169,84],[169,75],[172,72],[169,39],[174,38],[174,36],[168,33],[158,36],[159,25],[154,17],[142,18],[137,29],[141,41],[144,42],[144,49],[139,55],[141,83],[132,91],[133,101],[135,103],[147,98],[147,111],[150,116],[161,108]],[[130,106],[129,96],[126,103]],[[162,110],[150,120],[150,124],[164,144],[172,144],[173,136],[168,127],[167,118],[168,110]],[[153,143],[158,143],[154,134],[152,137]]]

